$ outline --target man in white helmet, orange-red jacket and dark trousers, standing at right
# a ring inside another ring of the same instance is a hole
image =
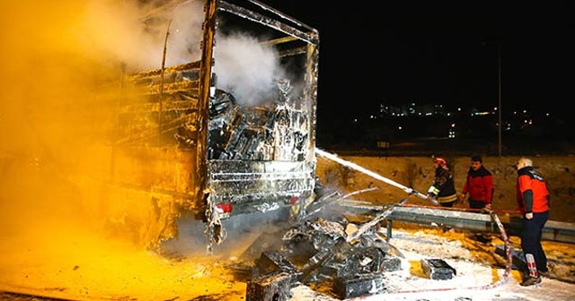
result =
[[[541,236],[549,219],[549,190],[543,176],[533,168],[531,159],[517,160],[517,204],[523,215],[521,249],[526,257],[526,277],[521,286],[541,283],[541,275],[549,272]]]

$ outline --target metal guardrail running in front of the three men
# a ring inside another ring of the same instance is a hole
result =
[[[521,216],[509,213],[498,214],[498,216],[509,236],[519,236],[521,234]],[[435,223],[451,228],[500,233],[497,224],[491,219],[491,216],[482,212],[397,205],[394,207],[394,211],[387,217],[387,239],[392,238],[394,220],[426,225]],[[542,239],[575,244],[575,224],[548,220],[543,229]]]

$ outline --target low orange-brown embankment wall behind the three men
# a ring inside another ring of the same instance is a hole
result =
[[[384,176],[399,185],[410,187],[420,193],[426,193],[433,182],[433,162],[430,157],[361,157],[340,156],[341,159],[355,163],[361,168]],[[483,157],[485,168],[493,174],[494,211],[516,211],[517,159],[519,156]],[[575,156],[536,156],[531,157],[534,168],[544,176],[551,193],[550,219],[575,222]],[[470,157],[447,157],[454,170],[456,191],[461,193]],[[342,166],[340,163],[318,157],[317,175],[321,183],[336,188],[343,193],[352,193],[367,187],[376,190],[354,195],[354,199],[375,204],[399,202],[406,196],[402,189],[389,185],[361,170]],[[429,202],[410,196],[411,204],[429,205]],[[456,207],[466,208],[467,202],[459,202]]]

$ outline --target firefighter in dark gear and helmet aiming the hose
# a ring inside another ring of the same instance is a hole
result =
[[[447,160],[441,157],[433,158],[435,177],[428,189],[428,199],[443,207],[453,207],[457,202],[456,185],[453,174],[447,166]]]

